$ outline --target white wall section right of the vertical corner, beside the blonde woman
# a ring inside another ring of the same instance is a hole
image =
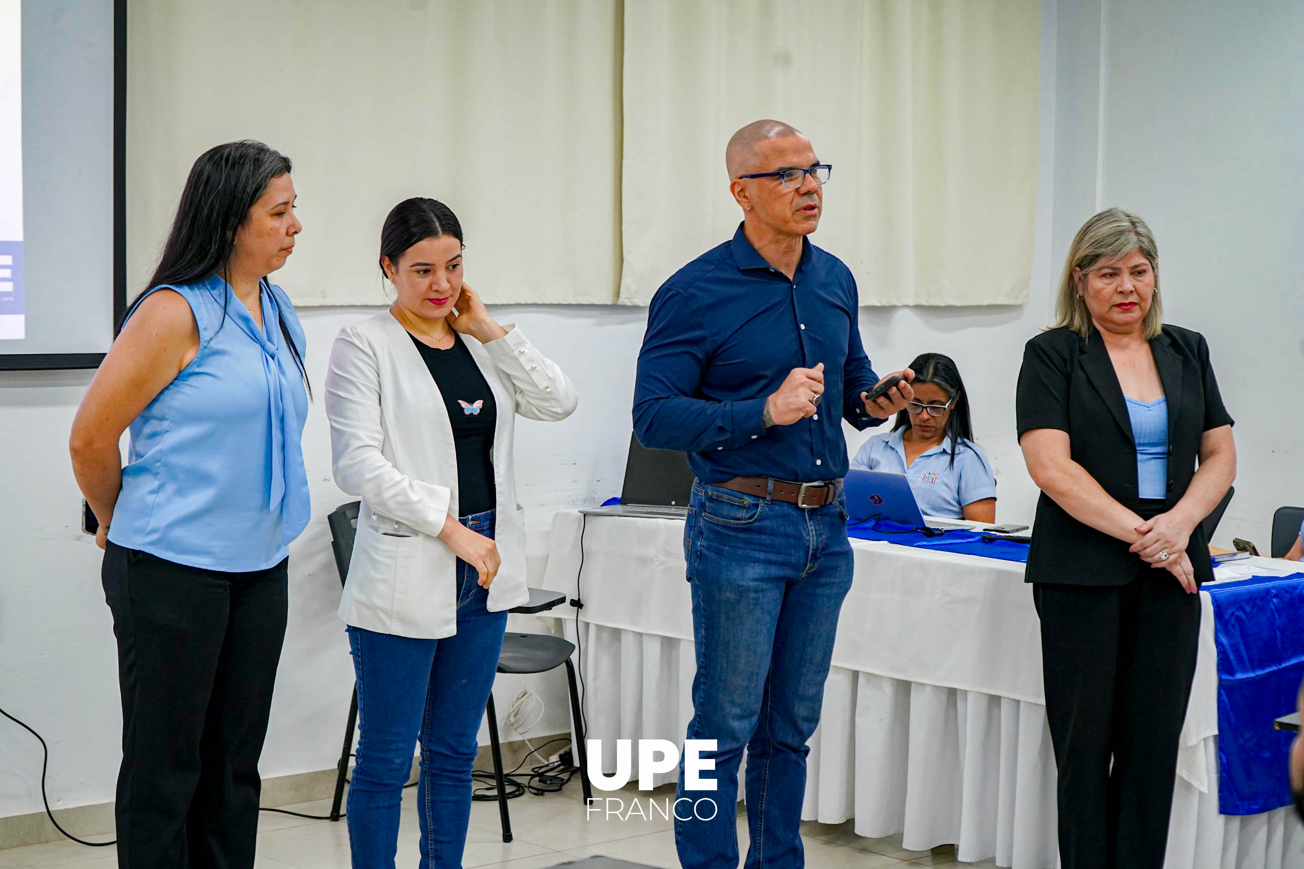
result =
[[[1236,420],[1215,538],[1266,555],[1271,512],[1304,503],[1304,5],[1111,0],[1106,21],[1103,199],[1150,223],[1166,319],[1209,339]]]

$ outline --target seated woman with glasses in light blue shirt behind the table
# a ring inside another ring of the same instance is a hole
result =
[[[925,516],[996,521],[996,478],[973,440],[969,395],[949,356],[923,353],[913,362],[914,401],[892,431],[861,444],[853,468],[905,474]]]

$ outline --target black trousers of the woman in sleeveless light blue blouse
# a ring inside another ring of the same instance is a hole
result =
[[[102,576],[123,692],[123,869],[253,868],[258,756],[286,636],[286,564],[223,573],[108,545]]]

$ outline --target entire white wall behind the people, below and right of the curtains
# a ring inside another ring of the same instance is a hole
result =
[[[926,350],[957,360],[971,392],[978,438],[996,466],[999,519],[1026,521],[1035,489],[1022,468],[1013,421],[1024,341],[1047,323],[1064,250],[1097,203],[1138,208],[1159,237],[1170,319],[1209,335],[1224,395],[1240,421],[1239,494],[1218,537],[1236,533],[1262,546],[1270,511],[1300,500],[1294,396],[1300,387],[1301,302],[1290,285],[1299,268],[1287,259],[1304,229],[1304,165],[1291,150],[1304,132],[1304,70],[1288,51],[1304,36],[1300,13],[1291,14],[1284,3],[1254,16],[1232,16],[1213,0],[1145,0],[1125,10],[1115,5],[1103,16],[1098,0],[1043,5],[1029,304],[866,309],[862,335],[884,370]],[[1116,63],[1102,64],[1102,46]],[[1102,68],[1108,72],[1103,99]],[[831,188],[828,195],[838,192]],[[679,264],[666,263],[666,275]],[[366,313],[304,313],[309,374],[318,388],[335,332]],[[519,426],[519,491],[532,532],[531,567],[539,569],[556,509],[619,491],[645,311],[613,306],[496,313],[518,322],[580,392],[570,420]],[[80,500],[65,449],[87,382],[89,373],[0,373],[0,706],[50,741],[55,805],[112,799],[119,761],[111,620],[99,588],[99,552],[77,530]],[[853,449],[862,438],[849,436]],[[334,765],[352,684],[335,618],[339,580],[325,525],[325,515],[346,496],[330,482],[319,400],[304,448],[314,521],[292,548],[291,624],[262,762],[269,776]],[[561,672],[531,685],[549,706],[548,719],[533,732],[563,730]],[[499,710],[519,687],[519,680],[501,680]],[[35,741],[0,720],[0,817],[40,809],[39,770]]]

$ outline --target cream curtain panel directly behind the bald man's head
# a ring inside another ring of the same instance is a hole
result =
[[[1025,302],[1039,20],[1037,0],[626,4],[621,301],[733,235],[725,143],[773,117],[833,164],[812,241],[862,305]]]

